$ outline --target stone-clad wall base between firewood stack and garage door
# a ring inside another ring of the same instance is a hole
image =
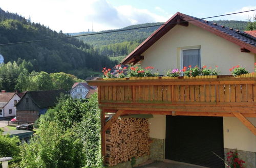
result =
[[[152,160],[163,160],[165,139],[151,138],[152,143],[150,144],[150,159]]]

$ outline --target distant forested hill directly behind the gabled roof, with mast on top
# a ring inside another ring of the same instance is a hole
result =
[[[236,21],[236,20],[214,20],[212,22],[225,25],[227,27],[232,27],[233,29],[239,29],[244,31],[247,25],[246,21]],[[158,23],[145,23],[145,24],[137,24],[124,27],[120,30],[133,29],[137,27],[145,27],[151,25],[158,25],[153,27],[147,27],[143,29],[115,32],[115,33],[107,33],[100,35],[92,35],[92,36],[84,36],[78,37],[78,39],[83,40],[84,42],[93,45],[98,53],[106,55],[108,57],[112,57],[112,60],[117,60],[120,62],[125,55],[132,52],[142,41],[144,41],[148,36],[150,36],[155,30],[158,29],[159,24],[163,24],[161,22]],[[113,31],[113,30],[110,30]],[[102,31],[108,32],[108,31]],[[92,32],[91,32],[92,33]],[[80,33],[71,33],[70,35],[81,35],[81,34],[91,34],[88,32],[80,32]],[[97,32],[94,32],[97,33]],[[120,57],[119,57],[120,56]]]

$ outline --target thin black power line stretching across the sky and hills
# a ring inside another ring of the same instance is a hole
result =
[[[186,21],[180,21],[180,23],[182,23],[182,22],[188,22],[188,21],[194,21],[194,20],[209,19],[209,18],[214,18],[214,17],[227,16],[227,15],[234,15],[234,14],[245,13],[245,12],[251,12],[251,11],[256,11],[256,9],[249,10],[249,11],[242,11],[242,12],[236,12],[236,13],[229,13],[229,14],[217,15],[217,16],[210,16],[210,17],[204,17],[204,18],[191,19],[191,20],[186,20]],[[169,25],[169,24],[177,24],[177,23],[168,23],[168,25]],[[50,38],[50,39],[41,39],[41,40],[31,40],[31,41],[23,41],[23,42],[15,42],[15,43],[5,43],[5,44],[0,44],[0,46],[3,46],[3,45],[12,45],[12,44],[32,43],[32,42],[47,41],[47,40],[68,39],[68,38],[83,37],[83,36],[93,36],[93,35],[100,35],[100,34],[107,34],[107,33],[115,33],[115,32],[123,32],[123,31],[144,29],[144,28],[148,28],[148,27],[155,27],[155,26],[161,26],[161,25],[167,25],[167,24],[156,24],[156,25],[149,25],[149,26],[143,26],[143,27],[136,27],[136,28],[131,28],[131,29],[115,30],[115,31],[108,31],[108,32],[99,32],[99,33],[92,33],[92,34],[86,34],[86,35],[77,35],[77,36],[68,36],[68,37],[59,37],[59,38]]]

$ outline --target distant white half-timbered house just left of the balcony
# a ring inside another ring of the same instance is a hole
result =
[[[89,86],[86,82],[75,82],[69,93],[74,99],[86,99],[96,91],[97,87]]]

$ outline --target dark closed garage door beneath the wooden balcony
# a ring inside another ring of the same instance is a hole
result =
[[[224,158],[222,117],[166,116],[166,159],[224,167],[216,155]]]

